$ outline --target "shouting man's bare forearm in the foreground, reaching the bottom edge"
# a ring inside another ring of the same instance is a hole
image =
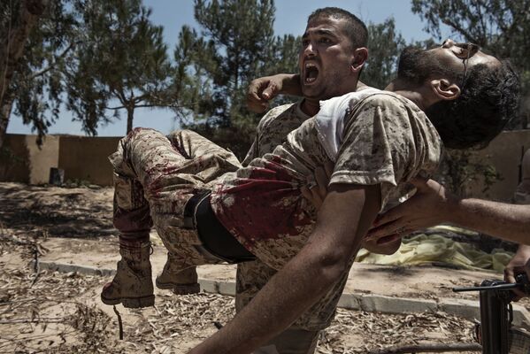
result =
[[[191,353],[252,352],[323,296],[340,272],[340,267],[326,266],[301,252],[273,276],[235,319]]]

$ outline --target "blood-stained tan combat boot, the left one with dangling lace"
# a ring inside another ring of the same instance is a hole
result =
[[[119,240],[121,259],[114,279],[105,284],[101,292],[104,304],[121,303],[128,308],[155,304],[150,251],[150,242]]]

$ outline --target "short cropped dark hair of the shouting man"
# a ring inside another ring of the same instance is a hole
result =
[[[324,7],[317,9],[307,19],[307,23],[313,19],[319,19],[320,17],[330,17],[333,19],[345,19],[346,26],[344,31],[348,35],[349,40],[353,48],[366,47],[368,44],[368,29],[366,28],[365,22],[357,18],[351,12],[347,12],[338,7]]]

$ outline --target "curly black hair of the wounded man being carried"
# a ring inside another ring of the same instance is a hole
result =
[[[460,91],[426,109],[446,148],[484,148],[518,113],[519,78],[508,60],[474,65]]]

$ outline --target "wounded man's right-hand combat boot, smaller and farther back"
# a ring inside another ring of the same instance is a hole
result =
[[[177,295],[196,294],[201,291],[197,282],[196,267],[182,269],[178,264],[177,257],[168,252],[164,270],[157,276],[157,288],[172,289]]]

